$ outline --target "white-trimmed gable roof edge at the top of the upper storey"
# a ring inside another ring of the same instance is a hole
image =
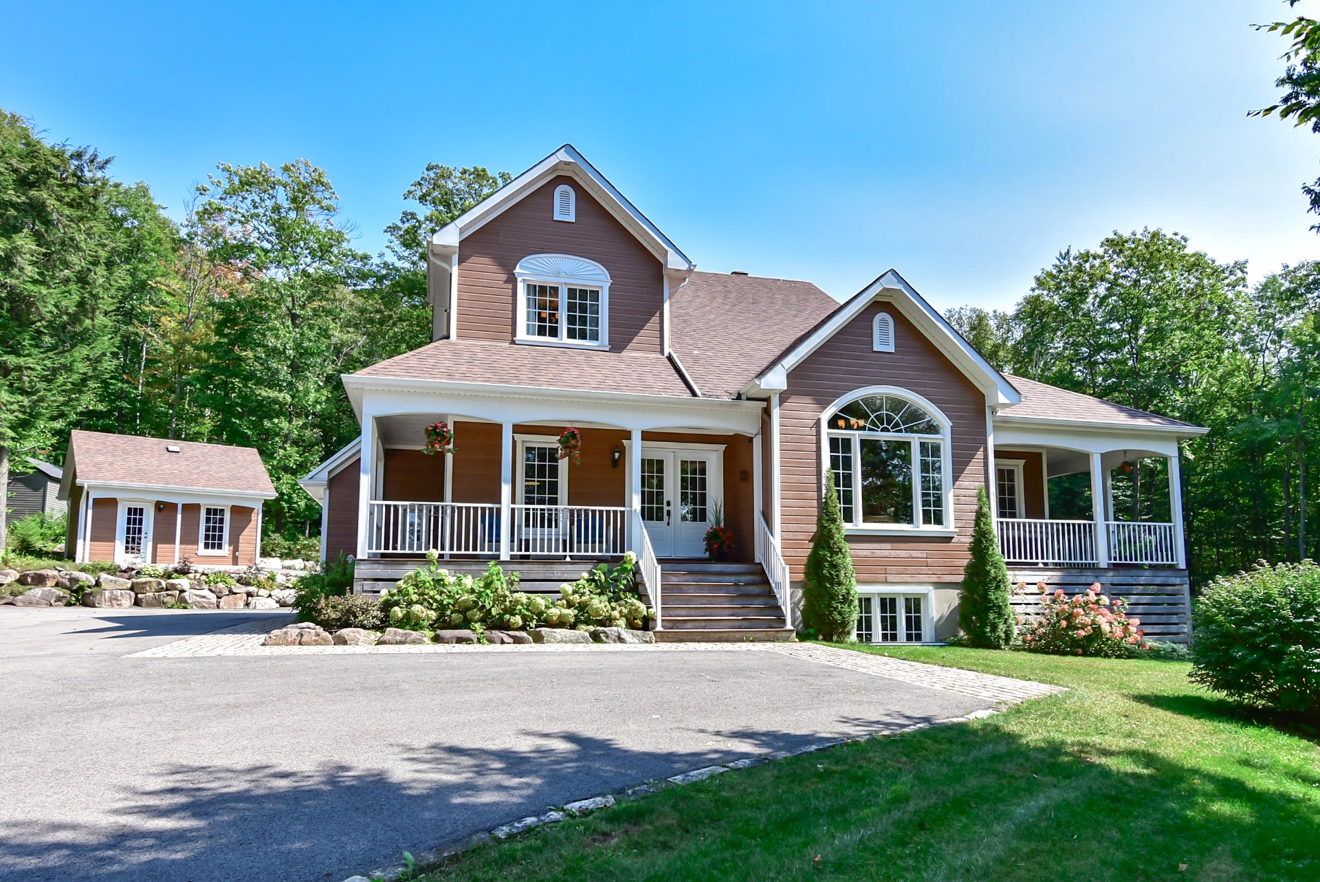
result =
[[[667,271],[690,272],[696,265],[669,236],[660,232],[660,228],[651,223],[647,215],[642,214],[627,197],[619,193],[572,144],[560,147],[540,162],[437,230],[430,236],[432,248],[453,252],[453,250],[458,248],[465,235],[479,230],[484,223],[499,217],[511,205],[557,174],[569,174],[586,186],[607,211],[618,218],[634,236],[642,240],[643,244],[664,261]]]

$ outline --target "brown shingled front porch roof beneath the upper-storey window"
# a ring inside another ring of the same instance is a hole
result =
[[[678,371],[659,353],[609,353],[473,339],[438,339],[378,362],[355,376],[692,397]]]

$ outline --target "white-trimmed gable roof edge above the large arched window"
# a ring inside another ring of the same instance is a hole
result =
[[[875,301],[890,301],[898,306],[908,306],[904,316],[925,334],[927,339],[948,358],[954,367],[961,370],[968,379],[977,384],[990,397],[991,403],[1006,405],[1016,404],[1022,400],[1018,390],[1008,379],[997,371],[978,353],[972,343],[956,331],[944,316],[935,310],[912,285],[907,283],[896,269],[888,269],[878,276],[871,284],[845,301],[833,313],[821,318],[812,329],[803,333],[796,341],[780,353],[774,362],[767,364],[756,378],[748,383],[746,391],[760,390],[762,392],[776,392],[787,388],[787,376],[808,355],[820,349],[826,341],[837,334],[845,325]]]

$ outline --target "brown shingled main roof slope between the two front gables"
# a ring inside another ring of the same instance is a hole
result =
[[[731,399],[838,305],[809,281],[693,272],[669,297],[669,346],[704,396]]]

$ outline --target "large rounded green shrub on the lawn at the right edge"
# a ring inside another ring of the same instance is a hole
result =
[[[1236,701],[1320,717],[1320,566],[1216,578],[1192,615],[1192,680]]]

